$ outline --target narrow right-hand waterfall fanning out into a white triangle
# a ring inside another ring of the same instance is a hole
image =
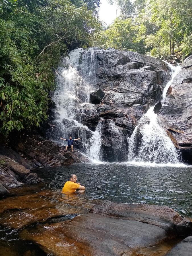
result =
[[[174,67],[170,63],[167,64],[172,69],[172,79],[164,88],[163,98],[166,96],[166,92],[180,68],[179,65]],[[157,164],[179,163],[179,156],[174,144],[164,129],[158,124],[157,114],[154,113],[154,106],[149,108],[135,127],[129,140],[128,158],[129,161]]]

